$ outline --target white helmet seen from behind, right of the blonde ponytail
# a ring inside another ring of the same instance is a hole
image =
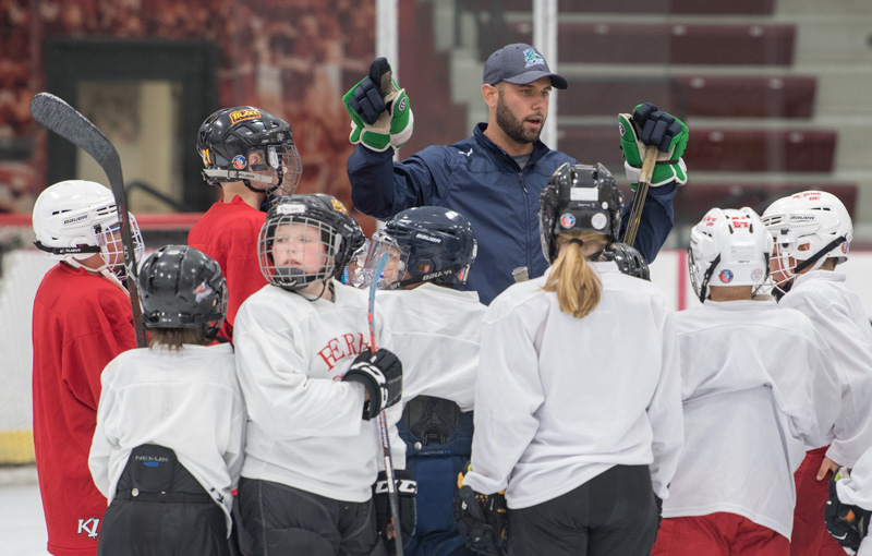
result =
[[[761,287],[768,275],[772,237],[751,208],[713,208],[690,232],[688,271],[700,301],[710,286]]]

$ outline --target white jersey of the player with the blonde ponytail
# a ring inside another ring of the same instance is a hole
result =
[[[681,378],[671,310],[654,285],[594,263],[603,292],[562,313],[547,274],[488,307],[464,484],[510,508],[553,499],[618,464],[651,469],[668,497],[681,450]]]

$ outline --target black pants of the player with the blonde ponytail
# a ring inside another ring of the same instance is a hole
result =
[[[557,498],[509,511],[509,556],[640,556],[657,535],[647,466],[615,466]]]

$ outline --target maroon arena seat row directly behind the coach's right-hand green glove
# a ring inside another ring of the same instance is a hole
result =
[[[562,128],[558,140],[578,160],[622,164],[614,128]],[[697,171],[831,172],[835,149],[835,131],[694,128],[685,160]]]

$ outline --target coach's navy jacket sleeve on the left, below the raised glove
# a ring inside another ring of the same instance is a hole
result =
[[[433,150],[435,155],[436,148],[422,154]],[[393,162],[393,149],[376,153],[358,145],[348,158],[354,208],[375,218],[389,218],[410,207],[438,204],[449,170],[446,165],[428,165],[422,154]],[[436,173],[431,168],[436,168]]]

